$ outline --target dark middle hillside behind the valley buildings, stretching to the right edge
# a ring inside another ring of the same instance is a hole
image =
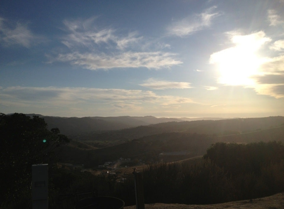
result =
[[[66,146],[62,148],[60,154],[62,162],[88,164],[89,166],[97,166],[119,157],[138,158],[145,161],[156,161],[161,158],[165,161],[175,161],[204,155],[210,145],[216,142],[250,143],[259,141],[284,141],[283,126],[226,136],[183,132],[152,134],[96,150]],[[161,153],[164,155],[160,155]]]

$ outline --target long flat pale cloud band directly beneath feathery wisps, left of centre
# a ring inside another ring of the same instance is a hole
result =
[[[138,68],[160,69],[181,64],[174,58],[175,54],[167,52],[123,52],[113,55],[105,53],[68,53],[59,54],[57,61],[69,61],[73,65],[86,69]]]

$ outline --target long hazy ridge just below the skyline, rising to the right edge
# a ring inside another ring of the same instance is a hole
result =
[[[231,135],[249,133],[271,127],[280,127],[283,124],[284,117],[282,116],[226,120],[197,120],[151,124],[148,126],[138,126],[122,130],[89,132],[80,135],[70,135],[69,137],[75,140],[88,141],[87,143],[91,143],[92,141],[107,141],[113,142],[113,145],[115,145],[118,140],[119,143],[124,143],[129,140],[162,133],[184,132],[209,135]],[[101,146],[104,147],[104,145]]]

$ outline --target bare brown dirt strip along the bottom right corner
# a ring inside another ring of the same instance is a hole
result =
[[[136,209],[136,206],[124,209]],[[145,209],[284,209],[284,192],[264,198],[215,205],[146,204]]]

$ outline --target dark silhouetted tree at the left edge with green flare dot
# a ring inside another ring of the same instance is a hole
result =
[[[54,150],[68,143],[43,118],[0,113],[0,205],[15,202],[31,184],[32,164],[55,162]]]

